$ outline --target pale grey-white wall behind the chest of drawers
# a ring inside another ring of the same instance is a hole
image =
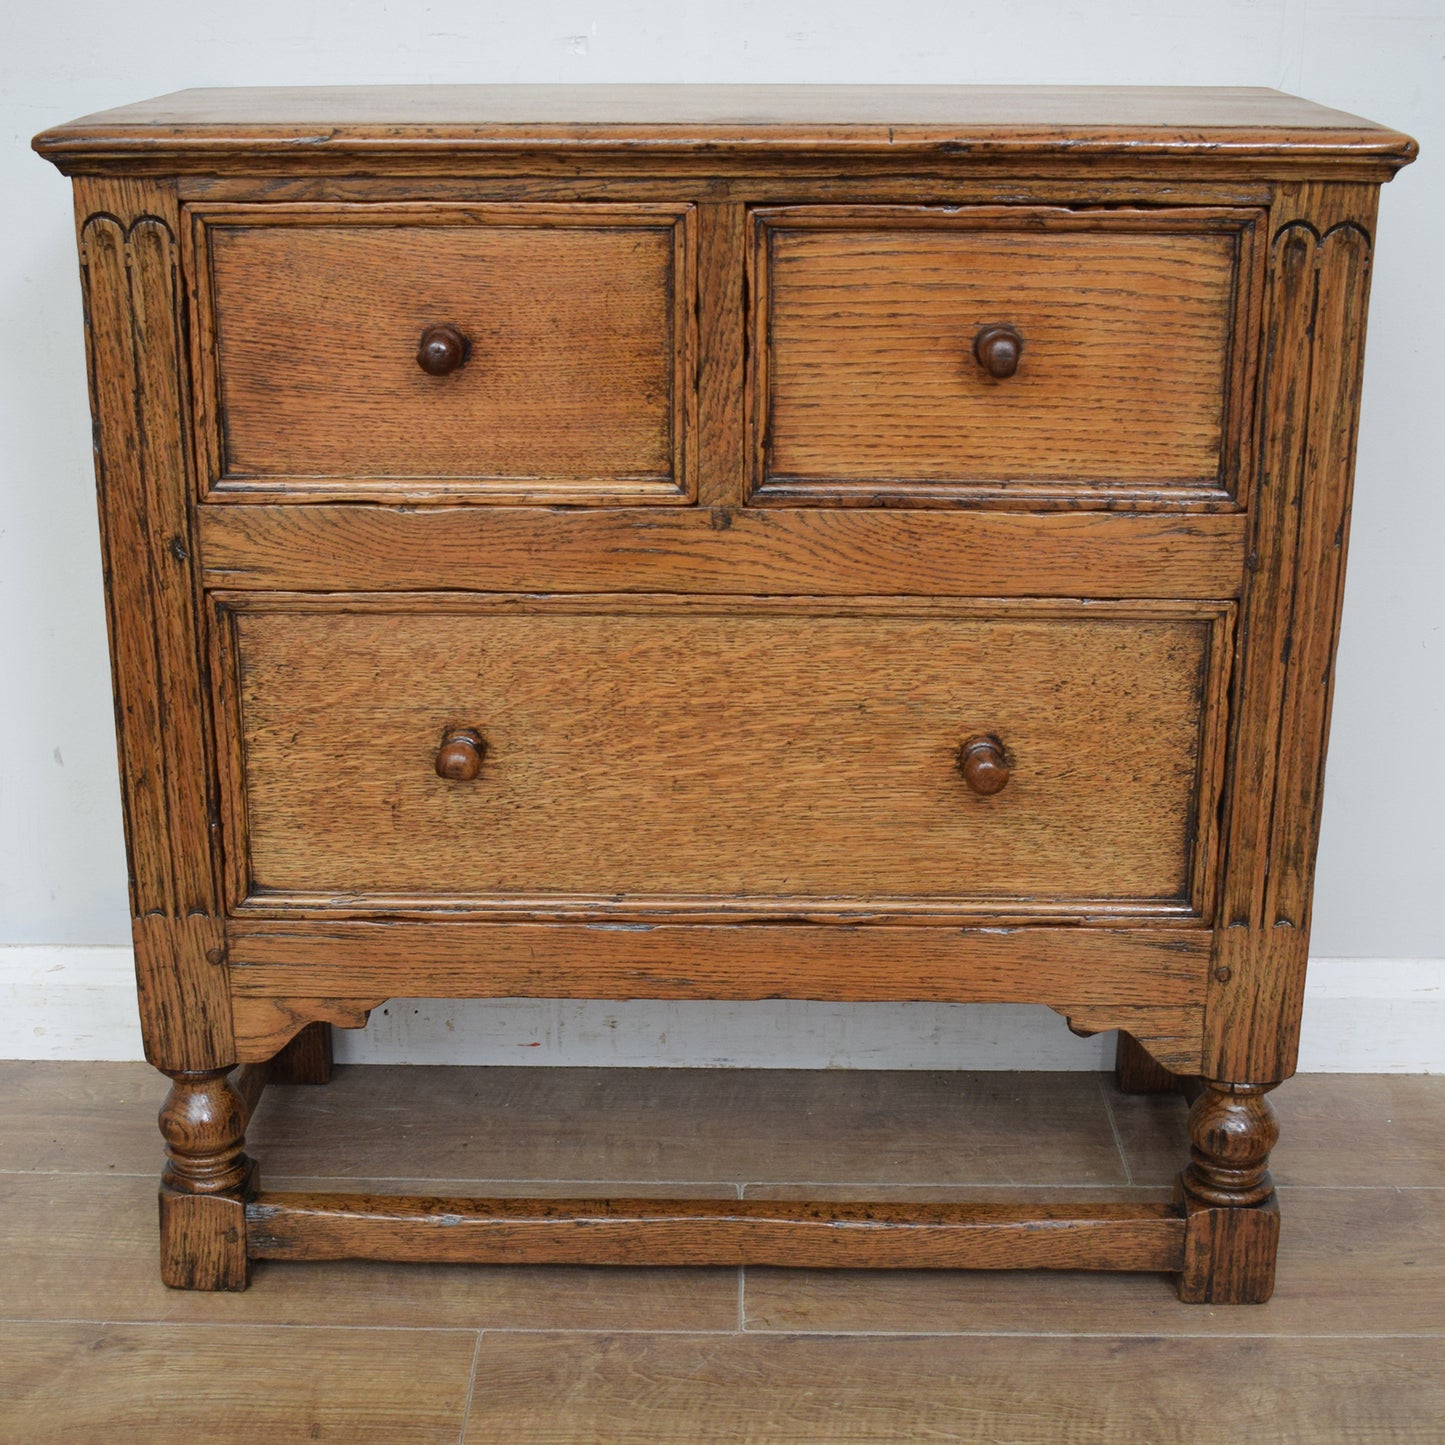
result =
[[[1445,0],[7,0],[0,945],[127,936],[69,195],[29,137],[186,85],[649,79],[1273,85],[1420,140],[1381,201],[1314,951],[1445,959]],[[702,1053],[741,1026],[709,1009]],[[798,1016],[777,1062],[868,1062],[902,1017],[834,1049]]]

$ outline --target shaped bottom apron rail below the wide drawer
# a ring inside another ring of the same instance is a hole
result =
[[[397,994],[603,998],[970,998],[1046,1003],[1199,1071],[1202,929],[455,923],[230,928],[236,1038],[270,1058],[311,1019],[360,1027]]]

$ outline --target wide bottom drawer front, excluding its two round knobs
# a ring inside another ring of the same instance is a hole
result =
[[[1231,611],[233,594],[233,902],[1194,915]]]

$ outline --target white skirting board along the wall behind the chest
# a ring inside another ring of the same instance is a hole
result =
[[[139,1059],[129,948],[0,946],[0,1058]],[[1013,1004],[587,1003],[393,998],[337,1030],[350,1064],[656,1068],[1101,1069],[1113,1036],[1077,1039]],[[1445,958],[1316,958],[1302,1072],[1445,1072]]]

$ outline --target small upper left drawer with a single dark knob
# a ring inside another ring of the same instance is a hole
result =
[[[191,220],[214,499],[689,500],[691,208]]]

